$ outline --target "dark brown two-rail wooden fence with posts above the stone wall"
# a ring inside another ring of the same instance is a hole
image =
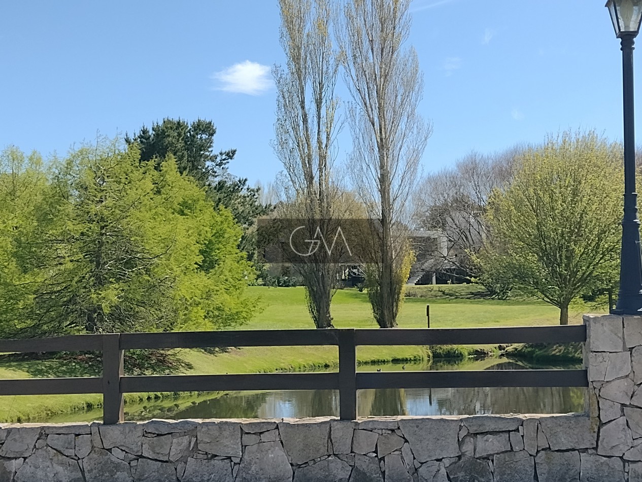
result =
[[[569,343],[586,341],[584,325],[456,328],[329,329],[114,333],[29,340],[0,340],[0,352],[100,351],[101,377],[0,379],[0,395],[102,393],[103,422],[123,422],[123,393],[209,392],[217,390],[339,390],[342,420],[357,417],[357,390],[365,388],[467,388],[501,386],[588,386],[586,370],[483,370],[434,372],[356,371],[359,345],[482,345],[499,343]],[[123,371],[130,349],[209,347],[338,347],[338,373],[150,375]]]

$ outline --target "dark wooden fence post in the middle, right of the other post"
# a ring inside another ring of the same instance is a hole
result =
[[[339,338],[339,418],[357,418],[357,357],[354,329],[338,330]]]

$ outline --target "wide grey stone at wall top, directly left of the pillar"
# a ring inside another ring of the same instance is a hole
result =
[[[597,433],[586,415],[551,415],[539,419],[551,450],[577,450],[595,447]]]

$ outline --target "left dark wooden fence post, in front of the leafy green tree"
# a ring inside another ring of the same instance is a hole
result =
[[[125,421],[123,393],[120,377],[124,374],[123,350],[120,334],[103,335],[103,424],[112,425]]]

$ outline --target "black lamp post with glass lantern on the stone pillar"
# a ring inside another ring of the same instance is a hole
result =
[[[633,44],[642,20],[642,0],[609,0],[615,35],[622,49],[624,93],[624,217],[620,259],[620,293],[613,314],[642,314],[642,251],[636,193],[636,156],[633,103]]]

